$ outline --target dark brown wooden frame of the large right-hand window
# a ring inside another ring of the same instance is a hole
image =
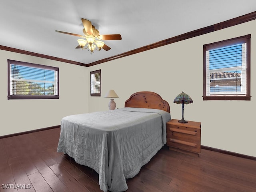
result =
[[[204,44],[203,45],[203,100],[251,100],[250,96],[250,38],[251,35],[245,35],[245,36],[240,36],[236,38],[231,38],[228,40],[223,40],[219,42],[214,42],[210,44]],[[245,95],[240,95],[240,94],[233,94],[233,95],[228,95],[228,94],[222,94],[222,95],[206,95],[206,78],[207,78],[207,66],[206,66],[206,51],[211,50],[214,48],[219,48],[219,47],[225,47],[225,46],[230,46],[233,44],[240,44],[246,42],[246,94]]]

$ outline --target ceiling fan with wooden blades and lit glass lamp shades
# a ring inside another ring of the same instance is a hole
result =
[[[122,39],[120,34],[100,35],[100,32],[92,25],[92,22],[90,22],[87,19],[82,18],[82,23],[84,25],[84,29],[83,29],[84,35],[78,35],[78,34],[74,34],[74,33],[58,31],[58,30],[55,30],[55,31],[58,33],[64,33],[64,34],[68,34],[68,35],[78,36],[80,38],[85,38],[86,40],[85,39],[77,40],[79,45],[76,47],[76,49],[89,48],[91,54],[93,53],[93,51],[95,49],[99,50],[99,51],[101,49],[104,49],[106,51],[111,49],[102,40],[121,40]]]

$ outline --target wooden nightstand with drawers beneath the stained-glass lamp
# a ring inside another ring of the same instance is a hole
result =
[[[188,121],[180,123],[172,119],[166,123],[167,146],[186,154],[201,153],[201,123]]]

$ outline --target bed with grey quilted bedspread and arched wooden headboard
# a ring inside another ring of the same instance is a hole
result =
[[[99,174],[100,189],[128,189],[141,167],[166,144],[170,106],[154,92],[136,92],[124,108],[66,116],[61,120],[57,152]]]

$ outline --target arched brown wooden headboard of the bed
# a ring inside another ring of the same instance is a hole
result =
[[[126,100],[124,107],[161,109],[170,113],[170,105],[160,95],[150,91],[136,92]]]

